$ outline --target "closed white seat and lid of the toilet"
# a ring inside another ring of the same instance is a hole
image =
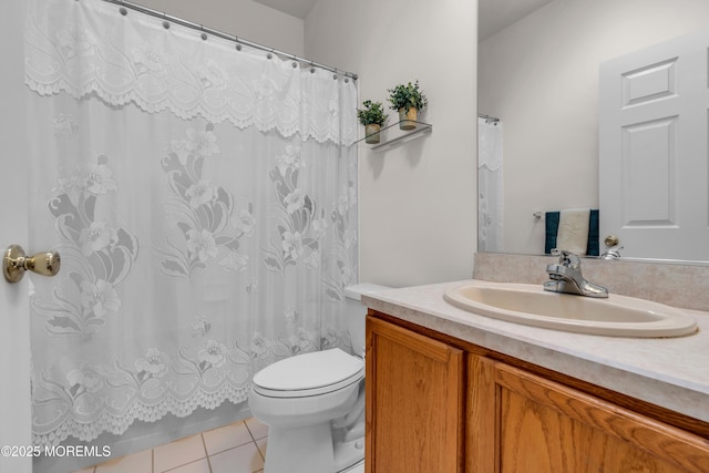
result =
[[[343,389],[364,377],[364,360],[339,348],[280,360],[254,376],[254,391],[270,398],[306,398]]]

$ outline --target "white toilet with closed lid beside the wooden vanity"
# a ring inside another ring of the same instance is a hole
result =
[[[389,289],[345,288],[356,354],[339,348],[298,354],[254,376],[248,404],[268,425],[264,473],[364,472],[364,320],[361,296]]]

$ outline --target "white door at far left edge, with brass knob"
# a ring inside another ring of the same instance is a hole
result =
[[[28,244],[24,153],[24,0],[3,2],[0,14],[0,247]],[[32,248],[29,248],[32,249]],[[0,276],[0,472],[30,473],[30,321],[28,279]]]

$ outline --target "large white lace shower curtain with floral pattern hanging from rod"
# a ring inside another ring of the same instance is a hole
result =
[[[28,6],[35,444],[247,399],[350,350],[357,88],[100,0]]]

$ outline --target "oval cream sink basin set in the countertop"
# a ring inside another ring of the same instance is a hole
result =
[[[610,294],[597,299],[545,291],[542,285],[472,280],[445,291],[448,302],[510,322],[617,337],[680,337],[697,331],[681,309]]]

